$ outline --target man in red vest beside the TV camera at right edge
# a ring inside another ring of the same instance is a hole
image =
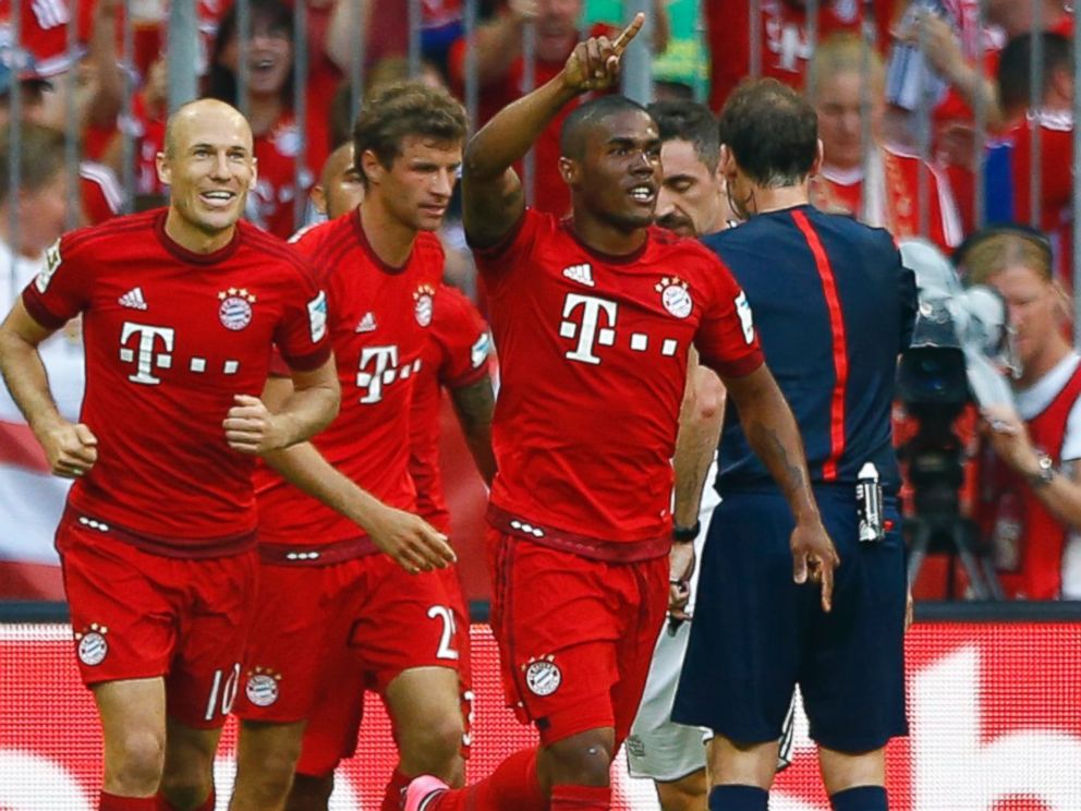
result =
[[[985,409],[977,519],[1007,595],[1081,598],[1081,355],[1064,330],[1067,300],[1039,231],[994,227],[958,251],[970,283],[1009,307],[1020,374],[1017,411]]]

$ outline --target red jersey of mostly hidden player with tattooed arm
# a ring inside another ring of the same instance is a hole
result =
[[[421,371],[413,382],[409,472],[416,485],[416,511],[440,532],[450,511],[439,470],[440,389],[472,386],[488,375],[488,325],[461,291],[444,285],[436,296]]]

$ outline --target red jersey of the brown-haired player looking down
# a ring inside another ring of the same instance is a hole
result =
[[[410,401],[442,278],[442,246],[435,234],[422,232],[406,264],[390,267],[372,250],[353,210],[304,231],[294,247],[317,268],[327,291],[341,383],[341,411],[312,443],[380,501],[412,510]],[[264,465],[255,482],[260,541],[321,545],[364,535]]]

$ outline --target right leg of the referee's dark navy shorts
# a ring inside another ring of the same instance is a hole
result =
[[[812,614],[800,689],[812,739],[839,752],[865,752],[908,728],[904,547],[892,501],[885,540],[859,541],[848,489],[816,494],[841,565],[833,610]]]

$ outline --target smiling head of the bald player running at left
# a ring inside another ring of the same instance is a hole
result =
[[[227,244],[255,182],[244,117],[211,99],[182,107],[170,119],[157,165],[158,178],[170,187],[169,235],[201,253]]]

